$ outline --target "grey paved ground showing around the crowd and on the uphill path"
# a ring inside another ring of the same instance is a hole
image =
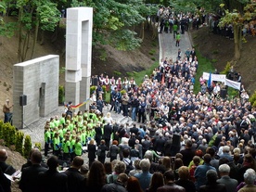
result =
[[[161,58],[173,58],[176,60],[178,48],[181,48],[182,53],[184,54],[187,48],[191,48],[191,43],[189,39],[189,35],[186,32],[185,34],[181,34],[181,42],[180,46],[175,46],[175,40],[173,39],[173,33],[160,33],[159,34],[160,40],[160,59]],[[44,127],[45,122],[49,120],[51,117],[55,117],[56,115],[60,116],[64,111],[64,107],[60,106],[58,110],[54,111],[53,113],[49,114],[45,118],[41,118],[37,122],[33,122],[29,126],[25,126],[24,129],[20,130],[24,134],[31,135],[32,138],[32,145],[34,143],[41,143],[42,147],[44,147]],[[109,108],[104,108],[104,113],[106,114],[109,111]],[[111,112],[111,116],[116,122],[132,124],[131,118],[125,118],[121,114],[117,114]],[[86,154],[83,155],[85,162],[87,162]]]

